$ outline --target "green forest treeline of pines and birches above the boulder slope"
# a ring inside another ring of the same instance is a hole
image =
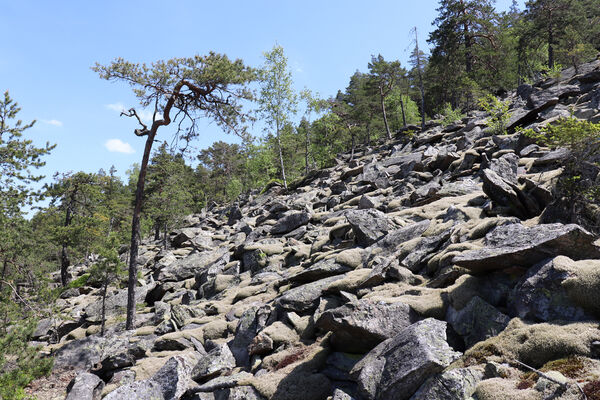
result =
[[[600,0],[529,0],[524,10],[513,2],[506,12],[491,0],[440,0],[433,25],[429,54],[413,29],[406,65],[373,55],[327,99],[294,90],[277,45],[257,68],[215,53],[151,66],[122,59],[96,65],[101,78],[125,81],[143,107],[163,115],[147,126],[135,109],[125,113],[140,123],[135,134],[150,140],[147,150],[156,143],[125,180],[107,165],[96,173],[57,173],[52,183],[32,189],[53,146],[26,138],[33,123],[18,119],[19,107],[6,92],[0,101],[0,398],[18,398],[48,369],[26,343],[47,305],[73,285],[68,266],[100,254],[113,261],[90,271],[91,278],[105,288],[125,282],[115,255],[127,252],[122,244],[135,244],[135,232],[166,246],[168,233],[190,213],[267,185],[287,187],[332,165],[341,152],[352,156],[357,146],[410,134],[426,120],[451,123],[481,98],[577,69],[600,51]],[[183,128],[180,123],[175,135],[156,136],[180,115]],[[196,118],[215,121],[241,140],[189,150],[201,134]],[[248,134],[253,121],[263,135]],[[47,205],[28,217],[26,210],[43,198]],[[57,270],[60,276],[50,275]]]

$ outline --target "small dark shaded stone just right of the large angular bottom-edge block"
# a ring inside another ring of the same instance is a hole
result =
[[[473,297],[461,310],[448,307],[446,321],[463,337],[467,348],[497,336],[506,328],[510,318],[479,296]]]

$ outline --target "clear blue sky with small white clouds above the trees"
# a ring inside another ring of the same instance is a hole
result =
[[[497,8],[510,2],[499,0]],[[127,85],[100,80],[90,69],[95,62],[149,63],[214,50],[259,66],[277,42],[297,89],[329,97],[354,71],[366,71],[372,54],[406,65],[409,31],[416,26],[426,46],[437,7],[437,0],[0,0],[0,90],[22,107],[21,119],[38,121],[29,138],[57,144],[44,174],[114,165],[124,176],[141,159],[144,140],[118,111],[136,100]],[[235,138],[207,124],[195,146],[217,140]]]

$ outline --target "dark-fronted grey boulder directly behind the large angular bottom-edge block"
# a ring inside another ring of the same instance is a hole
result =
[[[359,300],[325,311],[316,326],[332,331],[331,344],[340,351],[366,353],[418,320],[404,303]]]

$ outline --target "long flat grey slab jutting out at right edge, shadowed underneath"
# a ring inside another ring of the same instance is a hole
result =
[[[486,247],[459,254],[452,262],[480,273],[514,266],[530,267],[557,255],[573,259],[600,258],[600,249],[593,244],[595,239],[576,224],[502,225],[486,235]]]

